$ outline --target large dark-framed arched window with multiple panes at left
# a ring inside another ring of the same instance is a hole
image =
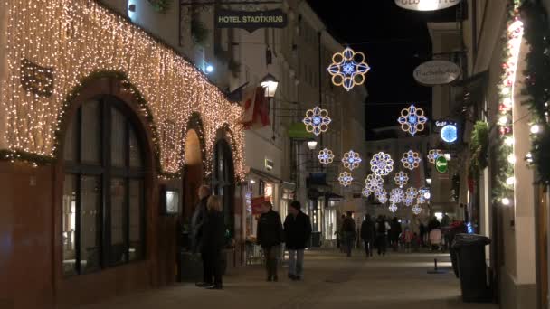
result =
[[[63,147],[63,273],[145,257],[144,152],[128,108],[109,96],[81,105]]]

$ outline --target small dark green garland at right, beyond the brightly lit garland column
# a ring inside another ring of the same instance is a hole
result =
[[[488,123],[478,121],[474,125],[469,142],[469,177],[477,180],[488,166]]]

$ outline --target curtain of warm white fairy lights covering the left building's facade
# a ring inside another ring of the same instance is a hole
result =
[[[142,98],[141,111],[152,119],[149,129],[158,138],[153,142],[162,173],[182,170],[185,126],[196,112],[204,125],[206,174],[212,171],[217,132],[227,127],[235,175],[244,178],[242,108],[229,102],[192,63],[93,1],[7,0],[6,5],[8,76],[2,83],[2,108],[9,149],[3,157],[51,160],[66,99],[81,88],[82,80],[109,70],[124,72],[133,85],[129,91]],[[32,83],[35,71],[24,70],[25,59],[43,68],[38,70],[46,80],[52,76],[51,95],[47,87],[22,87],[37,85]]]

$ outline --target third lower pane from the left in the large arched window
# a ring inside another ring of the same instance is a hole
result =
[[[112,264],[126,261],[126,183],[113,178],[110,182],[110,261]]]

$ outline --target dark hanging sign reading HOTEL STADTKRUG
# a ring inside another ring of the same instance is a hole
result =
[[[216,28],[239,28],[253,33],[261,28],[284,28],[288,23],[282,10],[232,11],[218,9],[214,16]]]

